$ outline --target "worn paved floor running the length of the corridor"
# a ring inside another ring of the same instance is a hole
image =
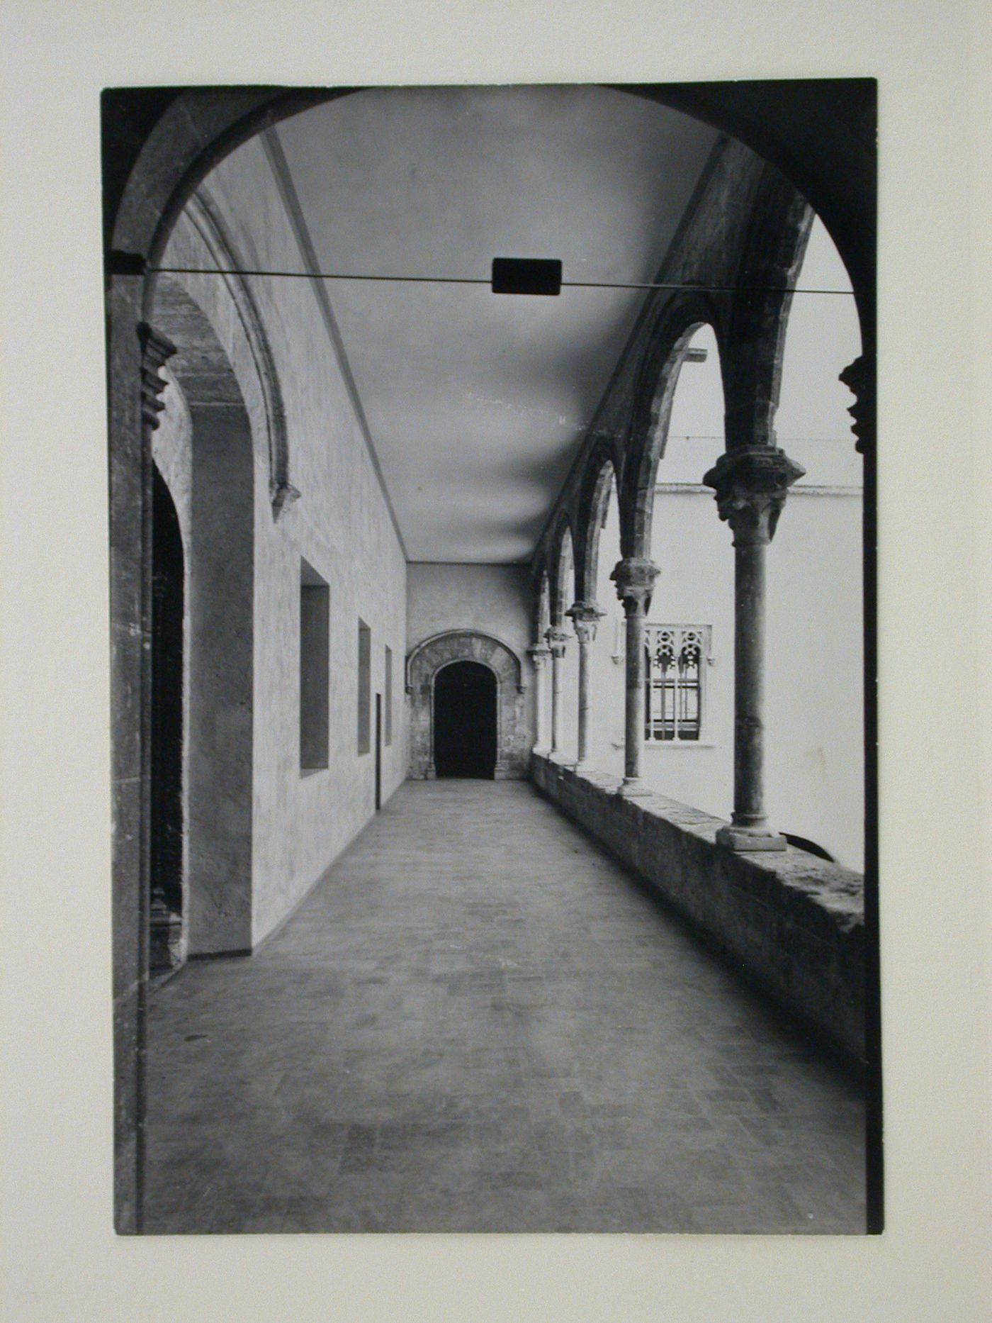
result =
[[[861,1232],[856,1084],[521,782],[151,1000],[149,1232]]]

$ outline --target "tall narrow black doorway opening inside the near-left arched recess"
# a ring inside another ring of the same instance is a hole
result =
[[[157,468],[152,476],[152,971],[183,963],[183,595],[179,516]]]

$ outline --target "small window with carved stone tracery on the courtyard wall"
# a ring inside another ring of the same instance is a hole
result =
[[[708,624],[644,626],[644,738],[698,741],[702,734]]]

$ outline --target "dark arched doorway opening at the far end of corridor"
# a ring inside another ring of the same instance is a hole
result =
[[[480,662],[452,662],[434,679],[434,771],[496,777],[496,676]]]

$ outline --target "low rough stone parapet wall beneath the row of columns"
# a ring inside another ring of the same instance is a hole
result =
[[[734,853],[664,795],[534,754],[538,790],[702,929],[746,976],[848,1056],[865,1056],[864,878],[791,847]]]

